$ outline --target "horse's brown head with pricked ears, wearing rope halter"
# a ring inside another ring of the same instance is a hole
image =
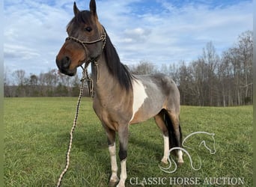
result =
[[[74,17],[67,25],[65,43],[56,57],[61,73],[76,75],[77,67],[99,58],[106,43],[106,33],[98,21],[95,0],[90,1],[90,10],[80,11],[73,4]]]

